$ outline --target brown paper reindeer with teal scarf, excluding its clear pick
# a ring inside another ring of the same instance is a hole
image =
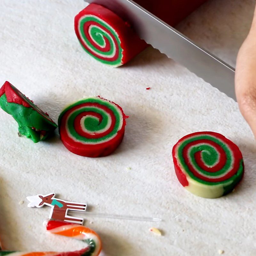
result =
[[[71,223],[83,224],[84,219],[68,216],[68,211],[85,212],[86,204],[67,202],[55,198],[55,193],[47,195],[27,196],[28,207],[41,208],[44,205],[51,207],[49,219],[63,220]]]

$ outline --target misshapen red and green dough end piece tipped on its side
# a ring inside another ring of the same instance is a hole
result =
[[[19,133],[35,143],[45,140],[57,127],[47,113],[7,81],[0,88],[0,107],[16,120]]]

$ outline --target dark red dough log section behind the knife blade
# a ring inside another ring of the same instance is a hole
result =
[[[172,27],[186,18],[207,0],[135,0],[149,12]]]

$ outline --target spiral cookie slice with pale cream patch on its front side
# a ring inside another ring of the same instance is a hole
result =
[[[195,132],[181,138],[172,157],[181,185],[205,198],[231,192],[244,174],[239,148],[216,132]]]

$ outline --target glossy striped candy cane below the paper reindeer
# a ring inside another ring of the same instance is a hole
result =
[[[84,226],[70,224],[65,221],[49,220],[46,229],[48,232],[60,236],[67,236],[81,240],[86,245],[83,249],[75,252],[13,252],[0,251],[0,256],[98,256],[101,251],[99,235]]]

